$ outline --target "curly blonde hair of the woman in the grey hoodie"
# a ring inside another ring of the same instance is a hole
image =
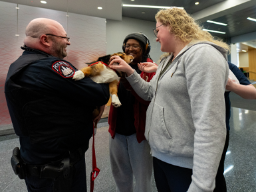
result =
[[[162,9],[156,13],[156,21],[169,27],[169,32],[182,40],[183,42],[192,42],[193,40],[209,41],[230,50],[229,46],[214,38],[209,32],[203,30],[201,26],[195,23],[195,20],[188,15],[184,9],[178,7],[171,7],[170,9]]]

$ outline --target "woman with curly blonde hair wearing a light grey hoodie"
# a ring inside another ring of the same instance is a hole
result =
[[[149,83],[116,56],[110,68],[125,72],[134,91],[151,101],[145,136],[158,191],[213,191],[226,136],[229,46],[178,7],[156,14],[154,34],[167,55]]]

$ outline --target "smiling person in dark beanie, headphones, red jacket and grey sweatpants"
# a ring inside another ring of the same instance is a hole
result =
[[[140,74],[140,79],[149,82],[155,73],[144,73],[138,69],[140,62],[153,62],[149,56],[150,41],[142,32],[133,32],[124,38],[123,51],[134,57],[130,68]],[[118,98],[122,105],[111,105],[108,116],[110,166],[116,191],[152,191],[152,156],[144,136],[146,110],[149,101],[141,99],[126,78],[118,85]],[[134,186],[135,178],[135,186]]]

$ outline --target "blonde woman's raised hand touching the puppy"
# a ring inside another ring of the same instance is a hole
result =
[[[110,58],[110,64],[109,68],[117,70],[119,72],[126,73],[127,76],[132,75],[134,73],[134,69],[131,68],[124,60],[122,60],[119,56],[112,56]],[[115,63],[118,63],[119,65],[114,65]]]

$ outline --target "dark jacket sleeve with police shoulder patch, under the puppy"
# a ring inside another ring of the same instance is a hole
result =
[[[108,84],[95,83],[90,77],[74,81],[72,76],[76,69],[65,61],[57,61],[45,66],[45,72],[39,74],[41,87],[47,94],[66,97],[70,102],[81,102],[84,105],[102,106],[110,97]]]

